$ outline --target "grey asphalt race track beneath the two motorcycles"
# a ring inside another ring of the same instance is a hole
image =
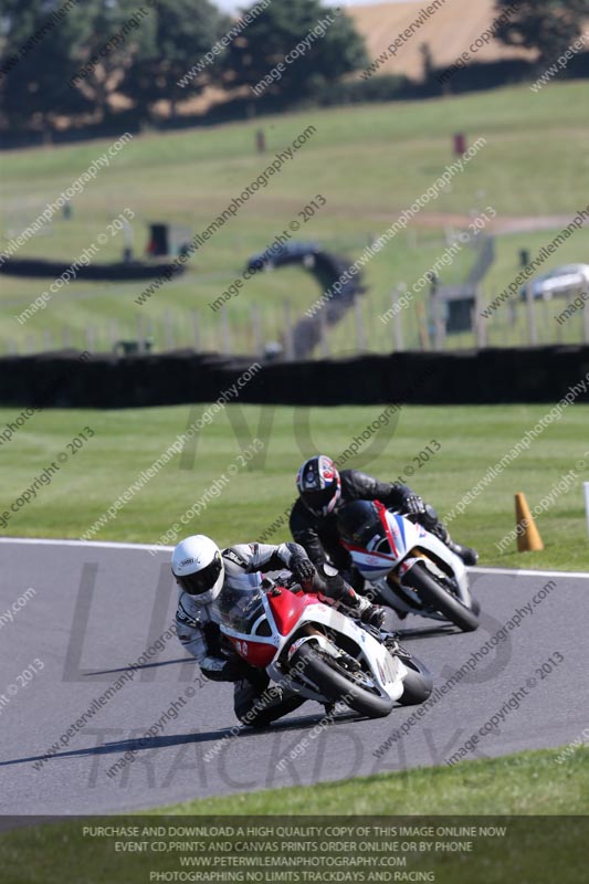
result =
[[[315,727],[323,708],[308,703],[272,728],[223,740],[235,726],[232,687],[194,683],[198,666],[175,636],[93,705],[173,619],[168,552],[2,538],[0,562],[2,814],[104,813],[439,765],[501,709],[498,727],[490,725],[466,758],[565,745],[587,727],[589,575],[475,569],[477,632],[440,630],[419,618],[400,623],[403,643],[439,687],[471,659],[465,677],[411,726],[420,707],[399,706],[374,722],[343,714]],[[35,593],[13,622],[2,619],[30,587]],[[517,609],[518,625],[491,646]],[[526,693],[513,698],[522,687]],[[166,716],[172,702],[177,712]],[[78,733],[42,761],[91,707]],[[162,717],[157,736],[140,740]],[[395,740],[403,723],[407,733]],[[133,760],[107,776],[127,751]]]

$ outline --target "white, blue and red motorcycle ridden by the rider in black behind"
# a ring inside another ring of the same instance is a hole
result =
[[[401,615],[450,621],[463,632],[477,629],[481,606],[464,562],[421,525],[378,501],[354,501],[338,512],[338,530],[378,601]]]

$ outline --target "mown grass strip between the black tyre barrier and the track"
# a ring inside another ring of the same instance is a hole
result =
[[[175,456],[133,493],[117,517],[107,519],[93,539],[156,543],[197,502],[201,502],[200,515],[187,518],[180,533],[210,534],[220,545],[259,539],[294,501],[294,478],[301,462],[317,450],[341,455],[383,408],[228,406],[199,435],[194,449]],[[0,516],[2,512],[9,516],[6,534],[81,537],[203,409],[48,410],[31,415],[11,442],[2,444]],[[443,516],[547,410],[543,406],[403,407],[343,465],[365,469],[383,480],[404,475]],[[0,430],[17,417],[15,410],[1,410]],[[538,517],[546,544],[543,552],[518,554],[515,543],[503,552],[496,548],[515,525],[514,493],[525,492],[532,507],[539,504],[589,450],[588,417],[587,406],[569,407],[452,523],[456,538],[478,548],[482,565],[589,567],[582,498],[587,469],[580,469],[562,493],[557,491]],[[248,429],[235,431],[240,419]],[[74,454],[67,443],[84,427],[95,435]],[[256,435],[264,449],[250,461],[253,469],[248,469],[240,455]],[[441,450],[423,466],[417,466],[412,459],[432,440]],[[62,464],[55,460],[60,452],[67,456]],[[11,512],[10,504],[52,461],[60,469],[50,484],[39,488],[35,499]],[[406,472],[408,466],[416,471],[411,476]],[[234,475],[222,482],[221,476],[231,472]],[[215,481],[219,496],[210,493],[204,497]],[[284,522],[266,537],[275,543],[287,536]],[[173,533],[168,535],[168,544],[175,540]]]

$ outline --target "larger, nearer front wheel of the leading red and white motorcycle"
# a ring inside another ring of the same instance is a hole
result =
[[[345,703],[368,718],[383,718],[395,706],[395,701],[389,696],[372,693],[357,684],[354,676],[338,666],[335,660],[327,662],[318,649],[309,646],[308,642],[301,645],[291,663],[293,667],[301,666],[305,676],[317,685],[327,699]]]

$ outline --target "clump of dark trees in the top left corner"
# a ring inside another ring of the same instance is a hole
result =
[[[209,0],[0,0],[4,124],[104,118],[115,113],[115,95],[146,118],[158,101],[173,106],[212,81],[217,54],[217,66],[178,85],[229,28]]]

